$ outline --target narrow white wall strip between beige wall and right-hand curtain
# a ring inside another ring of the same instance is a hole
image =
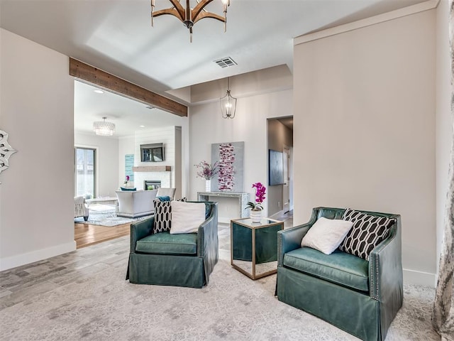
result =
[[[436,265],[445,224],[450,146],[453,139],[450,114],[449,6],[441,0],[436,10]]]

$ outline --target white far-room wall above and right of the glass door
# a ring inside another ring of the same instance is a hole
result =
[[[118,182],[118,139],[109,136],[74,133],[74,146],[96,148],[96,197],[115,197],[115,191],[123,185]],[[123,173],[124,173],[123,156]]]

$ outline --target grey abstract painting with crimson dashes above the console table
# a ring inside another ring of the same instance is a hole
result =
[[[211,190],[243,192],[244,142],[211,144],[211,163],[219,172],[211,179]]]

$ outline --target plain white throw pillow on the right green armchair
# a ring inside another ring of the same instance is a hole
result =
[[[332,254],[353,226],[353,222],[320,217],[301,240],[301,247],[311,247]],[[172,218],[173,228],[173,218]]]

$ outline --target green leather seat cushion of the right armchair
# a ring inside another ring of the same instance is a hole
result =
[[[284,266],[359,291],[369,291],[369,262],[336,249],[332,254],[301,247],[284,255]]]

